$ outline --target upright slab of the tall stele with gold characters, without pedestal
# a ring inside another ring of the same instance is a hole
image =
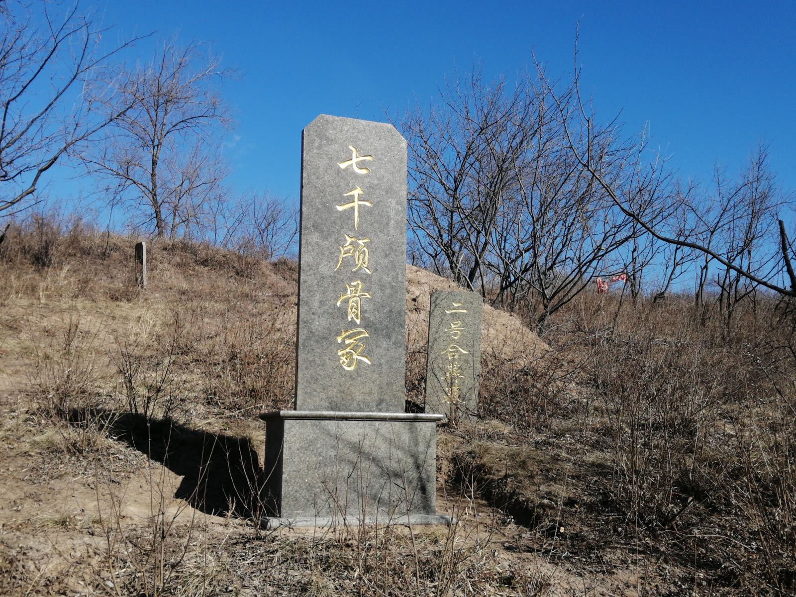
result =
[[[388,124],[304,130],[297,409],[404,411],[406,156]]]

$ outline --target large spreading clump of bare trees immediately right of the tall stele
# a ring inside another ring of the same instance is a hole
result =
[[[496,302],[536,305],[539,326],[595,275],[634,259],[640,267],[654,253],[646,230],[617,209],[569,143],[646,217],[670,206],[661,201],[670,193],[661,162],[642,163],[644,139],[621,142],[616,123],[575,131],[576,92],[542,72],[487,85],[476,71],[401,123],[414,246],[437,271]]]

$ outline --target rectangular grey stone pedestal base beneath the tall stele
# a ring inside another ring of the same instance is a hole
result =
[[[440,415],[267,412],[264,525],[450,524],[438,516]]]

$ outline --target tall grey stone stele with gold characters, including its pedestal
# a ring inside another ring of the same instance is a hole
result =
[[[321,115],[302,135],[295,410],[266,412],[269,527],[443,523],[442,416],[404,412],[406,141]]]

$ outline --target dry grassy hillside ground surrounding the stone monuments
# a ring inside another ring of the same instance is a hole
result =
[[[2,595],[794,595],[794,305],[486,309],[451,529],[254,524],[292,398],[296,264],[40,220],[0,245]],[[429,292],[408,267],[407,398]]]

